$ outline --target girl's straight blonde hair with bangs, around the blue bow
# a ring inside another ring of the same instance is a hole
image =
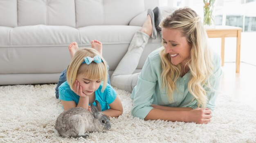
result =
[[[93,58],[94,56],[100,56],[103,62],[95,63],[92,61],[89,65],[83,63],[84,58],[89,56]],[[82,64],[83,63],[83,64]],[[70,89],[73,90],[73,84],[76,77],[79,74],[83,74],[88,79],[102,79],[103,86],[101,92],[104,91],[107,85],[107,62],[105,59],[93,48],[81,48],[76,51],[74,57],[71,59],[70,65],[67,67],[67,83],[70,85]]]

